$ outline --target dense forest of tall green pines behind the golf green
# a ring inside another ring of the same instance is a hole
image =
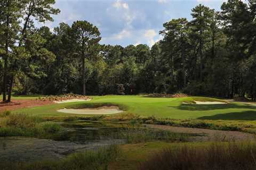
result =
[[[87,21],[51,31],[54,0],[0,2],[0,78],[4,101],[17,95],[141,93],[256,98],[256,1],[198,5],[192,19],[163,23],[151,48],[100,44]],[[189,12],[189,11],[188,11]],[[8,97],[7,97],[8,96]]]

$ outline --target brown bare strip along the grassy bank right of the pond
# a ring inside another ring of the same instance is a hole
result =
[[[198,128],[181,128],[166,125],[154,125],[147,124],[148,128],[169,130],[176,133],[189,133],[198,134],[196,137],[192,137],[193,141],[243,141],[243,140],[256,140],[254,134],[236,131],[220,131],[210,129],[198,129]]]

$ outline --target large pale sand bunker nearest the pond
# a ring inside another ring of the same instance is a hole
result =
[[[64,108],[64,109],[58,110],[57,112],[79,114],[79,115],[108,115],[108,114],[121,113],[123,111],[120,110],[117,106],[102,106],[97,108],[82,108],[82,109]]]

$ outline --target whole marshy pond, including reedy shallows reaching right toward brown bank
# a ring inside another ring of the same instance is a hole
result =
[[[187,134],[155,131],[125,124],[102,124],[86,121],[61,122],[63,132],[51,139],[25,137],[0,138],[0,162],[34,162],[63,158],[74,152],[109,145],[150,140],[187,141]]]

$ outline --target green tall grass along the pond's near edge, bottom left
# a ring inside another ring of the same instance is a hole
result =
[[[36,163],[7,163],[0,162],[0,169],[3,170],[105,170],[108,169],[109,162],[115,160],[121,154],[118,146],[112,145],[105,148],[100,148],[97,151],[86,151],[71,154],[55,162],[36,162]]]

